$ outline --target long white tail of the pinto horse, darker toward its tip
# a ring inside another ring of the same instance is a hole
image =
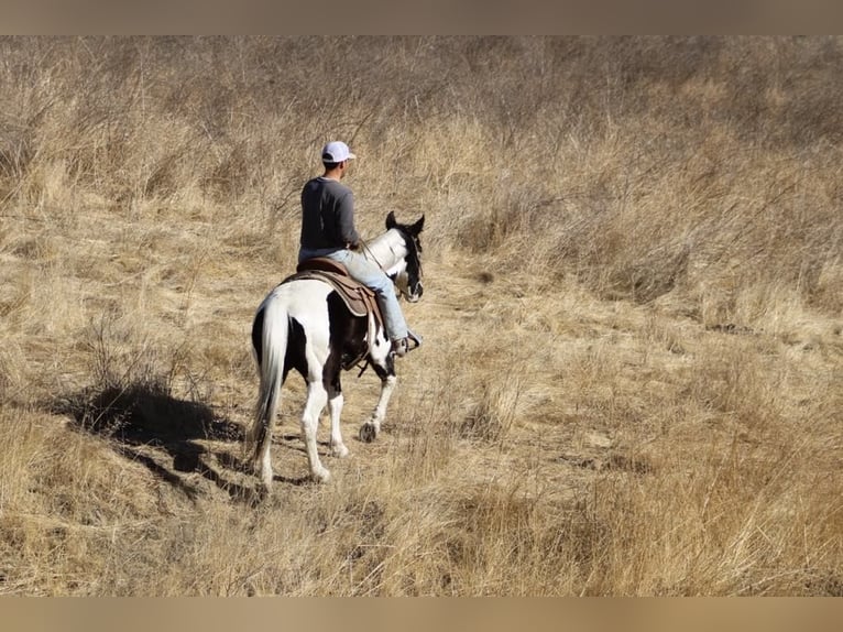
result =
[[[252,323],[252,347],[261,378],[254,424],[249,437],[251,444],[249,448],[254,449],[252,458],[256,469],[263,468],[262,462],[269,464],[272,427],[275,424],[275,413],[281,401],[281,385],[284,379],[288,319],[284,301],[271,294],[258,309]],[[264,478],[272,477],[271,471],[262,473]]]

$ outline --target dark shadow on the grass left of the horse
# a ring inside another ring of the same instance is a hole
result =
[[[144,465],[188,498],[201,493],[199,482],[185,473],[198,472],[232,499],[259,500],[253,484],[242,484],[244,464],[209,442],[240,444],[240,425],[215,414],[206,404],[179,400],[156,383],[86,389],[50,405],[68,415],[80,432],[111,439],[124,457]]]

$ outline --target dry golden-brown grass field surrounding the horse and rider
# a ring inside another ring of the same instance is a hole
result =
[[[0,53],[0,593],[843,593],[839,39]],[[364,235],[427,216],[426,345],[328,486],[291,379],[255,502],[328,138]]]

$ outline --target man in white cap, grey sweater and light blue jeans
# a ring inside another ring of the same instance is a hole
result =
[[[380,266],[351,251],[360,244],[354,229],[354,197],[340,181],[348,173],[349,161],[355,157],[341,141],[322,148],[325,173],[310,179],[302,190],[298,261],[327,257],[342,263],[353,279],[374,291],[392,350],[396,356],[405,356],[409,350],[409,331],[392,280]]]

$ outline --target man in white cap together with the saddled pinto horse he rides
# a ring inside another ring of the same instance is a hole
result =
[[[252,320],[260,389],[247,438],[251,464],[264,493],[269,493],[274,479],[272,432],[281,388],[291,370],[307,384],[302,436],[310,478],[325,482],[330,471],[319,458],[316,434],[326,405],[330,413],[331,455],[349,455],[340,429],[342,371],[364,360],[363,370],[371,367],[381,380],[377,403],[358,435],[370,443],[381,432],[395,389],[395,358],[420,342],[407,329],[396,293],[410,303],[419,301],[424,293],[419,233],[425,216],[414,224],[401,224],[390,211],[386,231],[363,242],[354,230],[351,190],[340,184],[353,157],[344,143],[325,146],[325,174],[309,181],[302,192],[298,270],[265,296]],[[352,252],[355,246],[361,246],[363,252]]]

